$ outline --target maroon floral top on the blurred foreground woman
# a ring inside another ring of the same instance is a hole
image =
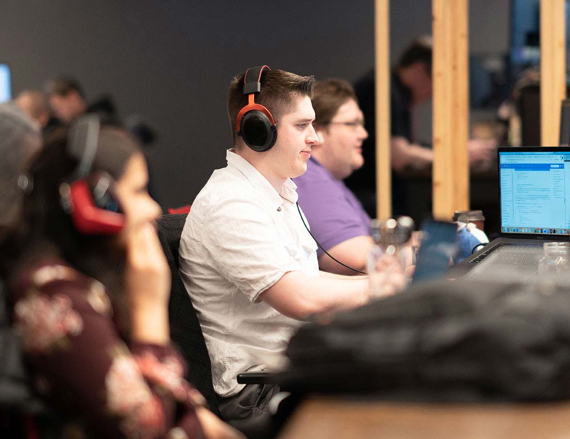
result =
[[[36,266],[16,288],[14,323],[32,381],[75,437],[202,438],[203,397],[169,346],[127,346],[103,284],[66,264]]]

